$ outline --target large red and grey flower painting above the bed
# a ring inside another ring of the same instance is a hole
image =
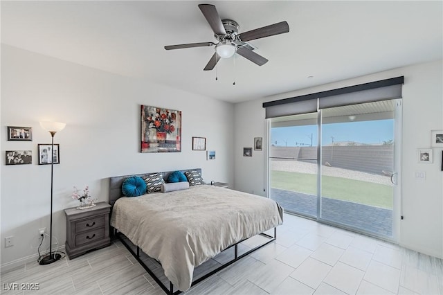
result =
[[[181,152],[181,111],[141,106],[141,152]]]

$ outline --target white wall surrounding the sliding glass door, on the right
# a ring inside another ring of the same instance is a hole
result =
[[[235,105],[235,189],[266,195],[263,152],[243,157],[243,147],[252,146],[253,137],[266,138],[262,102],[300,96],[404,75],[402,186],[404,220],[399,244],[409,249],[443,258],[443,172],[442,148],[434,148],[433,164],[417,163],[417,148],[431,147],[431,130],[443,129],[442,60],[392,69],[363,77],[301,89],[290,93],[251,100]],[[426,180],[415,172],[426,172]]]

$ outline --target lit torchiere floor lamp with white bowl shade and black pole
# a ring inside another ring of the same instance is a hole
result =
[[[54,135],[55,133],[62,131],[65,123],[60,122],[49,122],[44,121],[40,122],[40,126],[43,129],[51,133],[52,141],[51,141],[51,154],[48,155],[48,160],[51,159],[51,225],[49,227],[49,253],[47,253],[43,258],[39,261],[40,265],[49,265],[52,262],[60,260],[62,256],[58,253],[53,253],[53,175],[54,175]]]

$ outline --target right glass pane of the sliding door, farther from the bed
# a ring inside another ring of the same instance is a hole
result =
[[[323,109],[320,219],[393,237],[395,100]]]

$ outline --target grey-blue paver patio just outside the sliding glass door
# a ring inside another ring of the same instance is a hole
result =
[[[271,199],[285,212],[317,215],[317,197],[290,190],[271,188]],[[321,217],[370,233],[392,237],[392,210],[322,197]]]

